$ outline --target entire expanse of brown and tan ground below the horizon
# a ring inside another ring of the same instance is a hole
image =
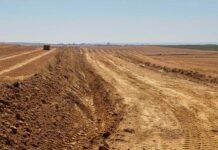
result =
[[[0,149],[218,149],[218,51],[1,49]]]

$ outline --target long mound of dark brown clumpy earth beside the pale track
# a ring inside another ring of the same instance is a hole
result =
[[[0,149],[107,147],[104,139],[121,120],[122,99],[78,50],[0,89]]]

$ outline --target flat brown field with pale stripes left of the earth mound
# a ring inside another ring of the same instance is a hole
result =
[[[1,81],[24,79],[38,73],[46,66],[48,58],[54,56],[54,51],[56,49],[47,52],[39,47],[0,45]]]

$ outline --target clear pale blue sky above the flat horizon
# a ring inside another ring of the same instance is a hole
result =
[[[0,42],[218,44],[218,0],[0,0]]]

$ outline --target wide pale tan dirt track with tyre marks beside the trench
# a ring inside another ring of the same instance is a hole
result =
[[[129,105],[124,121],[108,140],[112,149],[218,147],[218,135],[212,132],[218,125],[216,89],[141,69],[113,52],[87,52],[87,58]],[[144,115],[146,110],[150,112]]]

